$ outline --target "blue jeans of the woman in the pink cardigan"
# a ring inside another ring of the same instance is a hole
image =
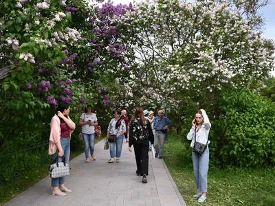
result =
[[[64,157],[65,157],[65,163],[69,163],[69,152],[70,152],[70,142],[71,138],[69,137],[61,137],[61,147],[64,152]],[[58,150],[52,155],[52,160],[56,159],[58,156]],[[58,157],[58,162],[62,161],[61,157]],[[58,177],[58,178],[52,178],[52,187],[58,187],[58,185],[63,185],[65,181],[65,176]]]

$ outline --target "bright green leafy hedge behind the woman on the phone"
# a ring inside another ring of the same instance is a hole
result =
[[[212,123],[208,137],[210,162],[221,167],[273,166],[275,104],[248,89],[239,89],[221,93],[218,105],[218,116],[208,113]],[[187,121],[191,122],[191,117]],[[190,127],[184,128],[186,147],[190,147],[190,141],[186,140]]]

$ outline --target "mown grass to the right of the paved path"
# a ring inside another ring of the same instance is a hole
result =
[[[180,140],[179,135],[169,134],[169,143],[165,144],[164,149],[164,161],[186,205],[275,205],[275,168],[219,170],[211,166],[206,202],[197,203],[197,199],[192,198],[197,193],[192,163],[182,158],[184,147]]]

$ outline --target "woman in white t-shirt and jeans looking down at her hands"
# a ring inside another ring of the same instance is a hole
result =
[[[91,104],[85,107],[85,113],[80,116],[78,124],[82,126],[83,141],[85,144],[85,162],[89,163],[89,149],[91,158],[95,161],[96,157],[94,156],[94,138],[95,126],[98,126],[98,117],[96,117],[96,114],[93,113]]]

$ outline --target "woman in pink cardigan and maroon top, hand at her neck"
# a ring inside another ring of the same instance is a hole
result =
[[[52,160],[58,157],[65,157],[65,163],[69,163],[71,134],[76,128],[76,124],[69,118],[69,104],[62,102],[56,108],[56,115],[51,120],[49,155]],[[60,158],[59,158],[60,157]],[[52,178],[52,195],[66,196],[64,192],[72,192],[64,185],[65,176]]]

